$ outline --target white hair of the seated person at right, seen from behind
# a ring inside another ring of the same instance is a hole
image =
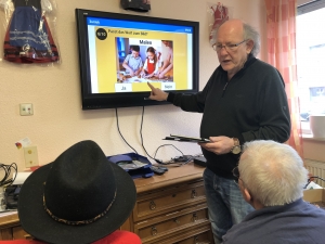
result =
[[[245,188],[264,206],[302,197],[308,181],[308,170],[297,151],[271,140],[245,143],[238,170]]]

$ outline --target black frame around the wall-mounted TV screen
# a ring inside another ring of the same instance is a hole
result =
[[[88,29],[87,16],[106,17],[115,20],[127,20],[134,22],[147,22],[157,24],[170,24],[193,27],[193,88],[192,90],[178,90],[174,92],[196,93],[198,92],[198,47],[199,47],[199,23],[192,21],[181,21],[172,18],[161,18],[152,16],[141,16],[121,13],[112,13],[103,11],[76,9],[77,22],[77,39],[79,52],[79,69],[81,79],[81,101],[82,110],[99,110],[99,108],[116,108],[116,107],[131,107],[131,106],[147,106],[147,105],[161,105],[170,104],[167,101],[158,102],[146,100],[150,92],[125,92],[125,93],[91,93],[90,87],[90,63],[89,63],[89,49],[88,49]]]

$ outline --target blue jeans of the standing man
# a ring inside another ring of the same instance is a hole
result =
[[[221,243],[222,235],[233,224],[242,222],[253,208],[244,200],[239,187],[233,179],[217,176],[206,168],[204,172],[209,220],[214,243]]]

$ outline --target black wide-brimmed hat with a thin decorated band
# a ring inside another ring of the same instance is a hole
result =
[[[93,141],[34,171],[18,198],[23,229],[48,243],[92,243],[117,230],[136,200],[132,178]]]

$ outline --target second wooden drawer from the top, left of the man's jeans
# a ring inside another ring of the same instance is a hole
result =
[[[139,229],[136,234],[145,242],[166,236],[177,231],[184,231],[190,227],[202,224],[203,222],[207,223],[209,221],[207,208],[180,216],[171,215],[170,217],[171,218],[165,221],[159,221]]]

